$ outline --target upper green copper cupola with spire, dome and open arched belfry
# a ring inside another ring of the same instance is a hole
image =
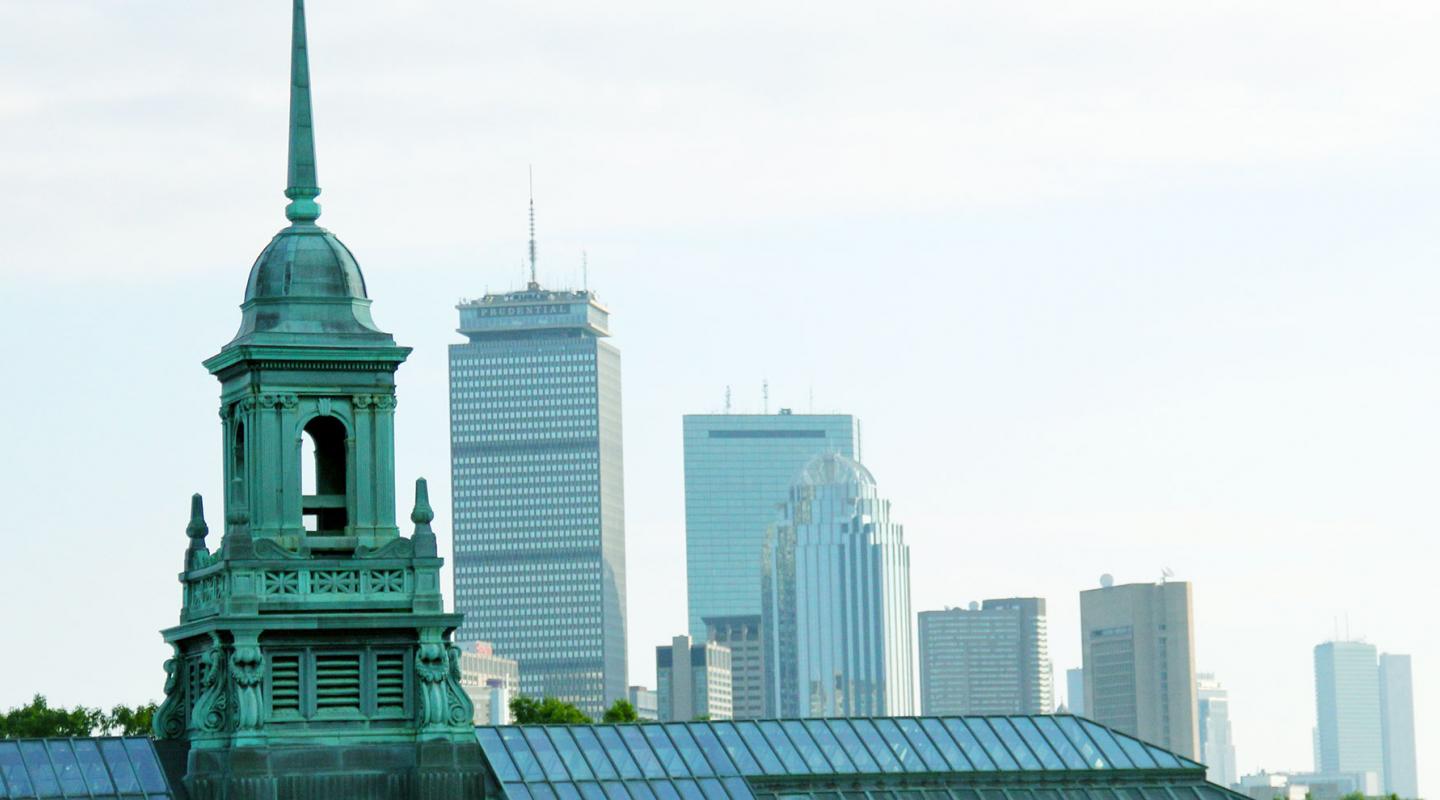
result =
[[[292,0],[285,216],[255,259],[222,383],[226,517],[288,548],[396,537],[395,370],[409,348],[370,318],[350,249],[315,224],[315,124],[304,0]]]

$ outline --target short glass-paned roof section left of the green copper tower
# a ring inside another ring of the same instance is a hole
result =
[[[0,740],[0,797],[170,797],[148,737]]]

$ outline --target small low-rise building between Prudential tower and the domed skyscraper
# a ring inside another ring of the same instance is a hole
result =
[[[661,722],[730,719],[730,649],[688,636],[655,647],[655,696]]]

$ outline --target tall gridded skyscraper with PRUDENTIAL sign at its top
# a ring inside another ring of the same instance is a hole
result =
[[[625,696],[621,355],[589,291],[459,306],[449,348],[456,639],[520,691],[598,715]]]

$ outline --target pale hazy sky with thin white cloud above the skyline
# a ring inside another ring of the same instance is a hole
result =
[[[289,3],[0,0],[0,706],[160,695],[190,492],[284,224]],[[625,358],[631,681],[685,626],[680,417],[842,410],[916,610],[1195,584],[1243,771],[1312,647],[1413,653],[1440,780],[1440,4],[311,0],[321,223],[449,528],[454,304],[540,275]],[[406,499],[402,514],[408,509]],[[215,537],[217,540],[217,537]],[[212,542],[213,544],[213,542]],[[1348,620],[1348,622],[1346,622]]]

